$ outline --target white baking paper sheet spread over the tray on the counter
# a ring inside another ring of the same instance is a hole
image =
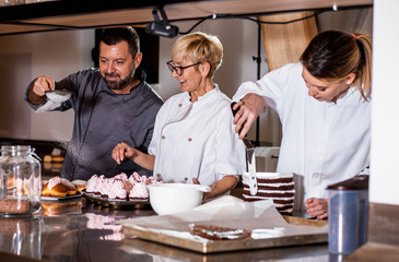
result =
[[[173,215],[146,216],[119,221],[125,227],[163,234],[196,241],[208,241],[189,234],[189,224],[242,228],[253,231],[253,238],[308,235],[328,231],[327,226],[296,226],[289,224],[275,210],[271,200],[245,202],[224,195],[196,209]]]

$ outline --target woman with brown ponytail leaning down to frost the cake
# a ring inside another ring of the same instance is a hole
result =
[[[282,123],[277,171],[294,172],[295,209],[318,219],[328,216],[326,188],[368,174],[371,146],[372,39],[327,31],[301,56],[243,83],[233,100],[243,139],[265,106]]]

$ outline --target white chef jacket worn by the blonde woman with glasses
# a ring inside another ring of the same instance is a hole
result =
[[[149,153],[155,155],[154,176],[168,182],[212,184],[245,171],[245,145],[233,124],[231,99],[218,87],[190,102],[180,93],[156,115]]]

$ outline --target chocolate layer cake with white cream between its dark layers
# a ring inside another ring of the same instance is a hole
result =
[[[293,174],[257,172],[256,177],[257,192],[253,195],[250,193],[249,174],[244,174],[243,199],[245,201],[271,199],[280,214],[292,215],[295,195]]]

